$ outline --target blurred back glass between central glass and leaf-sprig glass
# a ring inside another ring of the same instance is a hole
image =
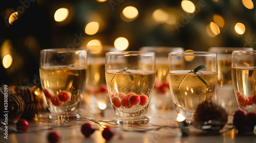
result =
[[[156,54],[156,79],[151,108],[160,110],[174,108],[168,82],[168,54],[170,52],[183,52],[184,49],[182,47],[143,46],[139,51],[155,52]]]

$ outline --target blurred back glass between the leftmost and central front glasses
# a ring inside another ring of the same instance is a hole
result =
[[[90,106],[90,111],[98,114],[105,108],[112,108],[105,80],[105,54],[119,50],[111,45],[90,45],[86,49],[88,53],[86,92],[90,99],[86,102]]]

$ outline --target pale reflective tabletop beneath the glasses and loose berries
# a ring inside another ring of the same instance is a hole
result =
[[[42,112],[37,115],[34,121],[29,121],[29,130],[25,133],[15,133],[11,131],[11,127],[15,127],[15,124],[9,124],[8,129],[8,139],[4,138],[3,131],[0,131],[0,142],[48,142],[47,135],[50,131],[56,131],[60,136],[60,142],[106,142],[106,140],[101,136],[102,128],[97,124],[89,121],[70,121],[69,124],[64,124],[61,127],[51,127],[51,126],[37,126],[35,125],[58,125],[60,122],[52,121],[48,118],[47,112]],[[81,107],[82,117],[91,117],[96,120],[113,120],[115,117],[114,110],[112,108],[104,110],[104,116],[99,114],[92,114],[88,110],[87,106]],[[160,125],[160,126],[176,126],[178,125],[174,118],[177,117],[175,110],[161,111],[149,109],[147,116],[150,118],[150,125]],[[232,123],[233,116],[229,116],[228,123]],[[99,130],[96,130],[91,137],[86,138],[81,133],[81,125],[84,123],[91,123]],[[112,122],[113,123],[113,122]],[[113,138],[107,142],[256,142],[256,135],[239,135],[236,129],[226,129],[220,134],[205,134],[200,130],[195,130],[194,127],[189,126],[189,135],[182,136],[180,128],[161,128],[159,130],[150,130],[145,132],[135,132],[136,128],[129,128],[126,126],[110,125],[108,123],[100,123],[102,125],[111,126],[114,128],[115,135]],[[232,127],[232,126],[228,126]],[[1,126],[3,128],[3,126]],[[157,127],[142,127],[143,129],[149,129]],[[129,131],[123,131],[123,129]],[[225,129],[225,128],[224,128]],[[137,130],[137,129],[136,129]]]

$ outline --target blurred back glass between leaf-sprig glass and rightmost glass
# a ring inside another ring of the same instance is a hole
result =
[[[218,83],[214,100],[229,114],[239,108],[231,78],[232,51],[238,50],[249,51],[253,49],[251,47],[210,47],[208,50],[217,53],[218,61]]]

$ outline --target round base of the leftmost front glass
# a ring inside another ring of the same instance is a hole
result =
[[[65,113],[49,113],[48,116],[51,120],[71,120],[74,118],[81,117],[81,114],[77,112],[65,112]]]

